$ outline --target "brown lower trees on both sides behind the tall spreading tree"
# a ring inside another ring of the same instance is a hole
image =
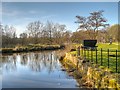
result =
[[[110,39],[112,39],[112,42],[119,42],[120,41],[120,35],[119,35],[119,28],[120,25],[115,24],[112,26],[109,26],[106,29],[98,30],[97,31],[97,42],[101,43],[109,43]],[[91,39],[91,37],[94,35],[94,31],[92,30],[79,30],[72,33],[71,40],[72,42],[82,43],[82,40],[84,39]]]

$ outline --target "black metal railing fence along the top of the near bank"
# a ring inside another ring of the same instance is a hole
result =
[[[113,72],[120,73],[120,51],[101,49],[78,49],[78,55],[93,64],[99,64],[110,68]]]

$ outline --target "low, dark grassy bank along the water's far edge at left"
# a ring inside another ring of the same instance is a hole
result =
[[[57,50],[63,49],[64,45],[40,45],[31,44],[27,46],[16,46],[15,48],[1,48],[1,53],[19,53],[19,52],[30,52],[30,51],[42,51],[42,50]]]

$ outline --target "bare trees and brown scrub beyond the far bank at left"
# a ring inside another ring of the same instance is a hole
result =
[[[15,47],[28,44],[63,44],[70,41],[71,32],[65,25],[47,21],[45,24],[34,21],[27,25],[27,30],[19,35],[13,26],[0,25],[2,47]]]

